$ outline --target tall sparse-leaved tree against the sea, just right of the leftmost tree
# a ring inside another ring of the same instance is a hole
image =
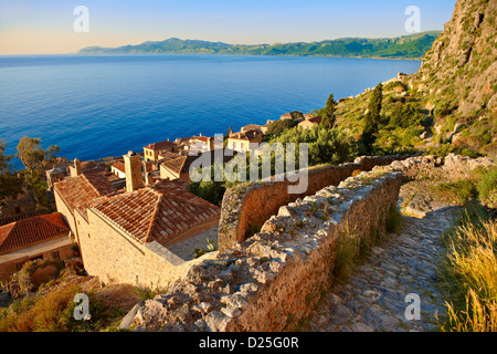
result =
[[[47,205],[46,181],[43,178],[45,167],[50,167],[55,163],[60,148],[51,145],[46,150],[41,146],[41,138],[32,138],[24,136],[19,140],[18,153],[15,156],[24,165],[24,180],[29,188],[33,190],[36,202],[41,207]]]

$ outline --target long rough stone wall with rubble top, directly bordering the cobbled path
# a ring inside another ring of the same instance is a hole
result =
[[[339,244],[383,233],[401,181],[401,173],[377,168],[281,207],[261,232],[191,267],[124,322],[149,331],[295,330],[330,285]]]

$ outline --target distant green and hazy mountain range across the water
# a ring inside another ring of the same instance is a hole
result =
[[[321,42],[295,42],[275,44],[226,44],[200,40],[170,38],[165,41],[145,42],[118,48],[87,46],[78,54],[237,54],[237,55],[295,55],[347,56],[383,59],[422,59],[441,31],[410,35],[366,39],[343,38]]]

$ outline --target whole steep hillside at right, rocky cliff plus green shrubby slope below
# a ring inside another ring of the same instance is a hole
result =
[[[419,72],[383,85],[373,153],[497,155],[496,12],[497,0],[457,0]],[[370,97],[367,90],[337,107],[339,126],[357,139]]]

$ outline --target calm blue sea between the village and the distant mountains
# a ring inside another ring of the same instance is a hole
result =
[[[357,95],[420,62],[338,58],[0,56],[0,138],[95,159],[163,140],[265,124]],[[15,164],[19,167],[19,164]]]

